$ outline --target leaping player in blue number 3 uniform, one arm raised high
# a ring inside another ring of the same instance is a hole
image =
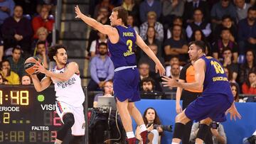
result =
[[[140,100],[139,71],[137,70],[136,56],[134,53],[135,44],[139,45],[154,60],[156,63],[156,72],[159,71],[161,76],[165,72],[163,65],[161,65],[154,52],[144,43],[134,29],[131,26],[125,26],[128,13],[122,6],[112,10],[110,16],[111,26],[102,25],[102,23],[97,22],[95,19],[85,16],[81,13],[78,6],[75,6],[75,13],[77,14],[76,18],[81,18],[87,25],[108,36],[107,45],[115,68],[114,97],[117,101],[117,109],[124,130],[127,132],[127,141],[129,144],[134,144],[137,141],[132,131],[132,116],[142,131],[140,134],[142,135],[143,143],[146,143],[146,126],[141,113],[134,105],[134,101]]]

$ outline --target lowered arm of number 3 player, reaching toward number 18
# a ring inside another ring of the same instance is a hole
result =
[[[148,45],[146,45],[146,43],[144,42],[144,40],[142,40],[142,37],[140,37],[138,33],[136,33],[136,38],[137,38],[136,44],[139,46],[139,48],[141,48],[146,53],[146,55],[148,55],[156,63],[156,72],[159,70],[159,74],[161,76],[164,75],[165,73],[164,66],[161,65],[161,62],[156,57],[154,52],[149,48]]]

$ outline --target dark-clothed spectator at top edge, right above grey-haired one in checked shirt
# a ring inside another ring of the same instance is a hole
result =
[[[161,16],[161,3],[157,0],[145,0],[139,5],[139,18],[142,23],[146,22],[149,11],[156,13],[156,20],[159,20]]]

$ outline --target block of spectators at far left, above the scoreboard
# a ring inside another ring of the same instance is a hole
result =
[[[56,0],[0,1],[0,84],[31,84],[24,70],[27,57],[38,57],[50,68]]]

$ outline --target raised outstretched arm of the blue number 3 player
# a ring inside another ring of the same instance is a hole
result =
[[[106,35],[114,35],[115,32],[117,32],[116,28],[113,28],[110,25],[103,25],[102,23],[96,21],[93,18],[90,18],[89,16],[85,16],[79,9],[78,6],[75,6],[75,13],[77,16],[75,18],[81,18],[82,21],[87,23],[87,25],[91,26],[92,28],[97,29],[97,31],[100,31],[100,33],[104,33]]]

